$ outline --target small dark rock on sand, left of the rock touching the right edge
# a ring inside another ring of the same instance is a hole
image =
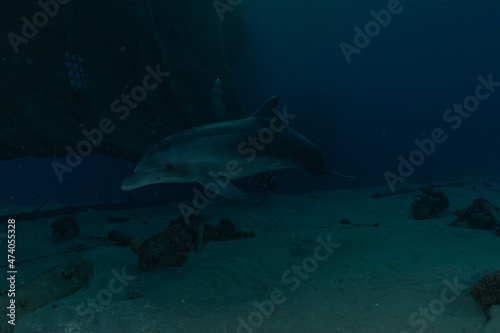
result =
[[[446,195],[440,190],[432,188],[420,188],[420,190],[422,194],[417,195],[420,199],[411,204],[415,220],[427,220],[438,216],[450,204]]]

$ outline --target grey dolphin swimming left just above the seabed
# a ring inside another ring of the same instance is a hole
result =
[[[314,143],[291,129],[295,115],[278,111],[279,96],[251,116],[189,128],[156,144],[122,183],[129,191],[157,183],[200,183],[226,198],[248,195],[231,181],[263,172],[294,168],[315,175],[352,178],[327,169]]]

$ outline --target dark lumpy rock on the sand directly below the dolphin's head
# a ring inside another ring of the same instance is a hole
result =
[[[169,226],[167,230],[146,239],[137,254],[139,267],[143,271],[168,266],[181,266],[187,260],[193,240],[179,226]]]

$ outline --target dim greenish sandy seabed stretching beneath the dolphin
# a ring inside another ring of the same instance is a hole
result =
[[[142,272],[137,255],[118,246],[23,264],[21,287],[75,255],[94,264],[94,276],[72,296],[20,318],[15,332],[480,332],[487,319],[469,288],[500,268],[500,238],[449,226],[451,213],[475,198],[500,203],[499,192],[476,185],[444,188],[450,207],[431,220],[411,215],[418,192],[372,199],[379,188],[213,203],[202,212],[208,223],[230,218],[255,237],[206,243],[182,267],[153,272]],[[81,212],[79,237],[58,245],[50,242],[56,218],[17,221],[17,260],[98,245],[87,237],[112,229],[151,237],[179,216],[177,204]],[[31,209],[4,206],[1,213]],[[106,222],[116,216],[131,221]],[[110,293],[117,274],[127,286]]]

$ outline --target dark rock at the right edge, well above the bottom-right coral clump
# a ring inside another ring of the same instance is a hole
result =
[[[497,206],[486,199],[477,198],[466,209],[453,212],[453,214],[457,215],[457,218],[450,225],[471,229],[499,230],[500,218],[498,212]]]

